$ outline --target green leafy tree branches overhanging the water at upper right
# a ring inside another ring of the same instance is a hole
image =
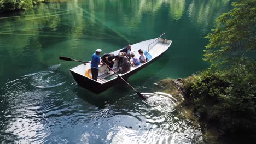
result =
[[[206,37],[210,43],[205,60],[213,64],[232,63],[244,56],[255,59],[256,0],[242,0],[232,6],[234,9],[220,16],[217,28]]]

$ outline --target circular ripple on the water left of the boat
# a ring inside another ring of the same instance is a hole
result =
[[[59,65],[54,65],[47,71],[34,74],[30,79],[31,85],[37,88],[51,88],[63,85],[65,77],[57,71],[58,67]]]

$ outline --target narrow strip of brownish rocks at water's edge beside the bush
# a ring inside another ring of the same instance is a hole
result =
[[[223,143],[220,139],[218,128],[205,121],[194,107],[193,101],[187,97],[188,92],[184,89],[186,79],[163,79],[158,81],[162,92],[171,94],[177,99],[176,109],[181,112],[181,117],[189,119],[195,127],[200,127],[205,143]]]

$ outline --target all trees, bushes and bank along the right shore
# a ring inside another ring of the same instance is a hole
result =
[[[159,81],[167,93],[173,94],[174,84],[182,91],[181,103],[192,106],[194,116],[199,116],[207,143],[223,138],[256,142],[255,5],[255,0],[234,2],[234,8],[218,18],[216,28],[205,37],[209,43],[204,60],[210,68],[187,79]]]

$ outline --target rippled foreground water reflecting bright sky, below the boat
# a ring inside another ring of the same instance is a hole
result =
[[[170,94],[145,90],[147,101],[131,93],[100,109],[81,99],[79,95],[86,97],[87,91],[80,91],[66,76],[60,65],[53,65],[7,82],[1,90],[4,136],[0,139],[18,143],[195,143],[201,139],[193,122],[177,116],[177,100]]]

